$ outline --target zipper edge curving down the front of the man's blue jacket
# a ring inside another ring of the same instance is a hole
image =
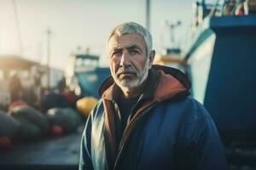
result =
[[[117,163],[119,161],[119,156],[121,155],[122,153],[122,150],[124,149],[124,146],[125,146],[125,141],[128,139],[129,137],[129,134],[131,133],[132,131],[132,128],[134,127],[134,125],[136,124],[136,122],[138,122],[138,120],[143,117],[152,107],[154,107],[154,105],[157,104],[156,101],[154,101],[153,103],[149,104],[148,107],[145,107],[143,108],[141,111],[139,112],[142,112],[133,122],[131,122],[131,126],[128,127],[127,129],[125,128],[125,133],[124,135],[122,136],[121,138],[121,142],[119,144],[119,150],[118,150],[118,154],[116,156],[116,159],[114,161],[114,165],[113,165],[113,169],[116,168],[117,166]]]

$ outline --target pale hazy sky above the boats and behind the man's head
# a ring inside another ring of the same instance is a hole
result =
[[[182,25],[175,30],[183,47],[192,14],[193,0],[151,0],[153,48],[170,46],[166,21]],[[90,48],[108,65],[106,40],[113,27],[125,21],[146,25],[146,0],[0,0],[0,55],[16,54],[42,64],[47,59],[50,37],[50,65],[65,69],[70,54]]]

